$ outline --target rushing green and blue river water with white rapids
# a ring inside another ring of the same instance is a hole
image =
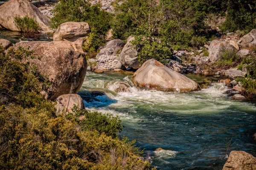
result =
[[[195,81],[209,78],[187,75]],[[223,94],[227,87],[213,83],[208,89],[177,93],[141,90],[133,86],[132,75],[87,72],[79,92],[98,90],[106,95],[84,100],[85,106],[118,115],[125,126],[119,136],[136,140],[145,148],[145,159],[159,170],[221,170],[231,150],[256,156],[256,104],[231,101]],[[211,78],[211,81],[214,78]],[[115,93],[106,84],[123,81],[131,92]],[[164,150],[155,151],[158,147]]]

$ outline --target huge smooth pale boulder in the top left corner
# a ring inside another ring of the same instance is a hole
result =
[[[20,32],[15,23],[16,16],[33,18],[38,22],[42,32],[52,32],[48,27],[50,19],[29,1],[10,0],[0,6],[0,25],[4,28]]]

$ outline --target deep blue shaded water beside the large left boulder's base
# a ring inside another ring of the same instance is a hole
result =
[[[78,93],[84,101],[85,107],[100,108],[117,103],[117,100],[111,99],[105,92],[84,90]]]

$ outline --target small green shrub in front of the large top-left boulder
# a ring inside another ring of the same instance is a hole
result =
[[[38,22],[28,16],[15,17],[15,23],[24,37],[35,37],[35,34],[40,30]]]

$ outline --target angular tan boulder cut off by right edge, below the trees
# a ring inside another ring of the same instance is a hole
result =
[[[247,35],[241,37],[237,42],[241,48],[247,48],[256,45],[256,29],[251,30]]]

